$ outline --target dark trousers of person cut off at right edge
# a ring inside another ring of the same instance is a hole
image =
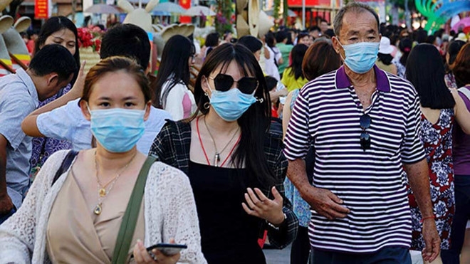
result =
[[[470,175],[455,175],[455,214],[451,227],[451,246],[441,251],[444,264],[460,263],[466,222],[470,219]]]

